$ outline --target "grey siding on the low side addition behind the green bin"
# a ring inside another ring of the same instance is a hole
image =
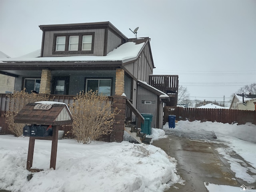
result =
[[[157,116],[157,105],[158,96],[141,86],[137,86],[137,109],[140,113],[152,114],[151,127],[156,128],[156,116]],[[154,104],[142,104],[142,101],[154,101]]]

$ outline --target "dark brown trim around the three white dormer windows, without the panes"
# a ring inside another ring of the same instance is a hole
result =
[[[91,50],[82,50],[82,40],[83,36],[92,36],[92,48]],[[56,51],[56,41],[57,37],[66,36],[65,50]],[[78,36],[78,50],[69,50],[69,40],[70,36]],[[84,32],[84,33],[54,33],[52,54],[93,54],[94,52],[94,36],[95,32]]]

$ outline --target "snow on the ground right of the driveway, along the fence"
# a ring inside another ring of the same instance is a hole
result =
[[[176,134],[178,136],[226,144],[228,146],[227,148],[216,148],[216,150],[228,160],[230,168],[235,172],[236,177],[241,178],[249,184],[256,182],[256,125],[252,123],[237,125],[218,122],[189,122],[187,120],[176,123],[174,129],[169,128],[167,122],[163,129],[167,133]],[[217,139],[213,139],[212,136],[214,136],[214,134]],[[234,154],[238,154],[244,160],[234,158],[234,156],[232,156]],[[250,174],[250,172],[252,174]],[[243,190],[239,187],[220,186],[209,183],[205,184],[205,186],[209,192],[234,192]],[[253,189],[250,189],[250,191],[254,191]]]

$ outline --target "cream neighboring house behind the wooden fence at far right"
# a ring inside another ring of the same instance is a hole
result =
[[[255,94],[234,94],[230,109],[238,110],[255,110],[256,95]]]

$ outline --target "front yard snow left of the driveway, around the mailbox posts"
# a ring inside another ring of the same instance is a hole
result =
[[[162,134],[163,130],[160,130]],[[153,138],[160,138],[158,131]],[[12,192],[161,192],[179,182],[176,160],[155,146],[58,140],[56,170],[49,169],[51,141],[36,140],[27,180],[28,137],[0,135],[0,189]],[[167,184],[166,184],[167,183]]]

